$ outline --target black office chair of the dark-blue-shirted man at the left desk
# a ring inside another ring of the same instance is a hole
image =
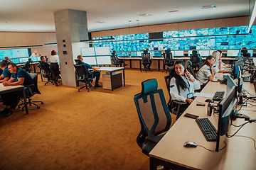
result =
[[[40,108],[40,106],[38,106],[38,104],[36,103],[41,103],[43,104],[43,101],[31,101],[31,97],[34,96],[35,94],[41,94],[40,91],[38,90],[38,74],[36,73],[28,73],[31,78],[33,79],[33,84],[31,85],[25,85],[25,87],[28,88],[28,91],[29,91],[29,94],[26,94],[26,98],[28,99],[26,101],[27,105],[29,104],[29,106],[31,106],[31,104],[37,106],[37,108]],[[32,91],[32,87],[33,86],[33,89],[35,89],[34,91]],[[21,104],[18,105],[18,108],[21,108],[22,105],[24,105],[22,107],[22,111],[25,111],[25,103],[23,102],[23,100],[21,100]]]

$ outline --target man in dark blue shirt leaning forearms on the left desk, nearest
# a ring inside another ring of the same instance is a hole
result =
[[[29,85],[33,84],[33,79],[23,69],[20,69],[11,62],[8,66],[9,71],[11,72],[11,79],[9,81],[4,81],[4,86],[16,86],[16,85]],[[31,91],[36,91],[34,86],[31,86]],[[28,89],[25,88],[25,93],[29,94]],[[6,106],[3,111],[0,112],[0,114],[4,114],[4,117],[8,117],[9,115],[12,115],[14,109],[18,105],[18,102],[20,98],[23,98],[22,91],[13,91],[7,94],[1,95],[3,104]]]

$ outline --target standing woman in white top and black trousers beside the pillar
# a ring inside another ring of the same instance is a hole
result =
[[[58,86],[58,78],[59,78],[59,66],[58,66],[58,55],[55,50],[51,51],[51,56],[50,56],[50,71],[53,74],[53,81],[55,86]]]

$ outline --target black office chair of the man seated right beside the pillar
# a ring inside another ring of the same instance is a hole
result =
[[[75,71],[77,73],[77,80],[78,82],[83,82],[85,83],[84,86],[80,86],[78,89],[78,92],[80,89],[83,89],[86,87],[87,91],[89,92],[89,88],[92,87],[92,77],[90,76],[91,74],[87,71],[87,68],[85,64],[79,64],[81,60],[75,60],[76,64],[74,64]],[[96,87],[95,87],[96,89]]]

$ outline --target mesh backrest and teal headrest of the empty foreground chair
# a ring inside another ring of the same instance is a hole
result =
[[[156,79],[142,82],[142,92],[134,96],[134,102],[142,128],[148,136],[169,130],[171,115],[162,89],[157,89]]]

